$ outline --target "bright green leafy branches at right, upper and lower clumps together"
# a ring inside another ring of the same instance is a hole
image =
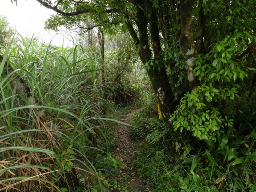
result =
[[[172,116],[171,120],[176,129],[180,128],[182,131],[186,128],[199,139],[216,140],[220,130],[232,126],[232,110],[229,111],[230,114],[221,115],[223,106],[216,107],[214,103],[225,105],[229,100],[239,98],[237,88],[240,86],[236,81],[243,80],[248,77],[249,71],[254,71],[254,68],[246,70],[240,61],[232,59],[234,53],[240,50],[238,38],[243,39],[244,33],[242,36],[237,33],[235,37],[227,37],[216,43],[209,54],[198,55],[194,71],[202,84],[191,94],[185,95]],[[232,151],[229,154],[231,158]]]

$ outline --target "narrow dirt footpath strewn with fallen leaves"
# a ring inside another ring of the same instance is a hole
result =
[[[132,114],[138,110],[130,112],[127,116],[122,116],[120,120],[123,123],[130,124]],[[117,178],[118,183],[122,183],[129,191],[134,192],[153,192],[152,187],[146,185],[144,179],[142,179],[134,168],[133,152],[137,148],[138,143],[134,142],[129,134],[129,126],[125,124],[119,124],[114,131],[114,135],[118,140],[118,145],[114,156],[123,160],[124,168],[119,169],[119,176]]]

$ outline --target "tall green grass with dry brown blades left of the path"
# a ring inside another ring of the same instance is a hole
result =
[[[16,94],[4,62],[36,98]],[[87,156],[102,136],[101,85],[97,63],[79,46],[56,47],[18,36],[0,65],[0,188],[6,191],[63,191],[74,178],[79,156],[96,174]],[[93,74],[93,75],[92,75]]]

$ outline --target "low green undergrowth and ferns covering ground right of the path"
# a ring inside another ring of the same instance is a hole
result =
[[[134,115],[133,125],[139,128],[130,132],[134,139],[142,140],[134,152],[134,166],[155,191],[256,190],[256,110],[240,110],[234,126],[216,142],[191,139],[179,156],[170,156],[164,149],[161,120],[149,111],[145,108]],[[156,132],[157,136],[152,136]]]

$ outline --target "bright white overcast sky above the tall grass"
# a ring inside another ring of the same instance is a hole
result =
[[[68,42],[64,36],[56,35],[53,31],[44,30],[44,22],[50,18],[50,15],[55,14],[53,10],[47,9],[40,5],[36,0],[18,0],[18,4],[12,4],[10,0],[0,0],[0,15],[6,16],[12,26],[22,36],[42,38],[44,42],[51,42],[58,46],[64,46]]]

